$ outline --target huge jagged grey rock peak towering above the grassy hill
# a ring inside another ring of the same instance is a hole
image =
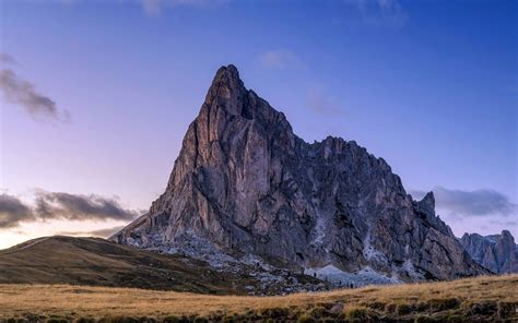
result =
[[[356,142],[304,142],[228,65],[189,125],[165,192],[111,239],[165,251],[195,240],[279,266],[402,280],[486,273],[434,208],[432,192],[413,201]]]

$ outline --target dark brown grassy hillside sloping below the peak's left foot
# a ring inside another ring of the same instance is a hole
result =
[[[138,287],[200,294],[262,294],[317,290],[313,277],[256,268],[257,277],[221,273],[202,261],[140,250],[99,238],[47,237],[0,250],[0,284],[71,284]],[[251,271],[251,270],[249,270]]]

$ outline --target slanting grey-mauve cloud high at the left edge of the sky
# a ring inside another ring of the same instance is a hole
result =
[[[25,108],[32,117],[68,121],[68,111],[59,110],[56,103],[50,97],[39,93],[32,82],[23,80],[12,69],[3,68],[3,65],[16,63],[12,56],[2,53],[0,60],[2,62],[0,91],[3,93],[5,100]]]

